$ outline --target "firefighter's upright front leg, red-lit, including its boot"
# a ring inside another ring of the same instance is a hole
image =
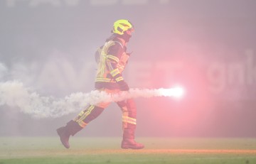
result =
[[[121,148],[141,149],[144,148],[142,143],[134,141],[137,109],[133,99],[127,99],[117,103],[122,109],[122,128],[123,139]]]

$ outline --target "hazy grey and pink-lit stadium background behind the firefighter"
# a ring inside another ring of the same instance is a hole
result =
[[[137,136],[255,137],[256,2],[252,0],[0,1],[0,80],[42,95],[90,92],[94,53],[112,23],[135,33],[125,77],[130,87],[181,84],[186,97],[139,98]],[[0,106],[1,136],[55,136],[77,113],[33,119]],[[112,104],[78,136],[120,136]]]

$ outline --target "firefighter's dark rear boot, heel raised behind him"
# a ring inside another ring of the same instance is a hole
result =
[[[80,131],[81,129],[82,127],[77,122],[71,120],[67,123],[66,126],[62,126],[56,131],[58,133],[58,136],[60,136],[60,141],[61,143],[63,143],[63,146],[65,146],[65,148],[70,148],[68,142],[70,136],[74,136],[75,133],[78,133],[78,131]]]

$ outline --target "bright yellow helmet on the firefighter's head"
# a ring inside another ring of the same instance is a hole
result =
[[[126,19],[119,19],[114,22],[112,33],[117,33],[119,35],[123,35],[124,31],[134,31],[132,23],[130,23]]]

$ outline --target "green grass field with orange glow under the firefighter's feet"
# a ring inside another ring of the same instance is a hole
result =
[[[256,163],[256,138],[137,138],[142,150],[119,148],[121,138],[1,137],[0,164]]]

